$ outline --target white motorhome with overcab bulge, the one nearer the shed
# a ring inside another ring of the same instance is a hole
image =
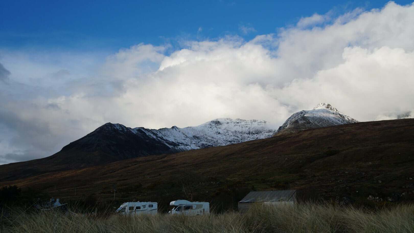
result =
[[[170,206],[174,206],[168,214],[204,215],[210,214],[210,204],[208,202],[176,200],[171,201]]]

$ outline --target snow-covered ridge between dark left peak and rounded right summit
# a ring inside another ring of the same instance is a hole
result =
[[[243,120],[218,118],[199,126],[178,128],[145,129],[128,128],[114,124],[120,131],[130,131],[136,135],[149,136],[161,141],[173,150],[184,151],[211,146],[225,146],[244,141],[269,138],[275,130],[269,129],[263,120]]]

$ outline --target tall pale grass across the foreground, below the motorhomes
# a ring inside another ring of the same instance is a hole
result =
[[[0,220],[0,233],[414,233],[414,204],[378,211],[328,204],[256,205],[246,214],[206,216],[113,214],[98,217],[56,211],[20,212]]]

